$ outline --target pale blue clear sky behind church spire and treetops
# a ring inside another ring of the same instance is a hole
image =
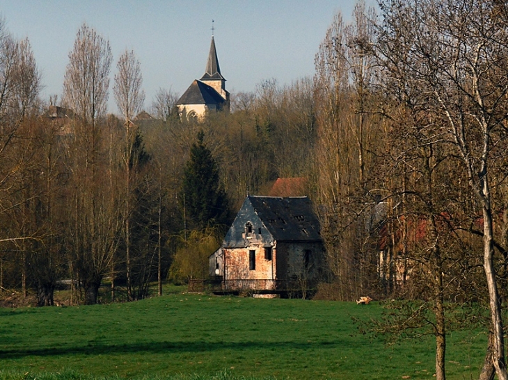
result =
[[[349,19],[354,0],[0,0],[16,38],[28,37],[42,73],[43,99],[61,97],[65,66],[84,22],[108,39],[116,61],[134,49],[141,61],[145,108],[158,88],[182,94],[205,72],[212,19],[221,72],[230,92],[265,79],[289,84],[314,73],[314,57],[333,15]],[[367,1],[372,3],[372,1]],[[116,113],[110,95],[109,112]]]

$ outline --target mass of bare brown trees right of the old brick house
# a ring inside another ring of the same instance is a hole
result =
[[[337,15],[316,56],[315,201],[336,290],[413,300],[372,329],[434,335],[437,379],[448,331],[484,326],[480,378],[507,379],[507,3],[378,5]]]

